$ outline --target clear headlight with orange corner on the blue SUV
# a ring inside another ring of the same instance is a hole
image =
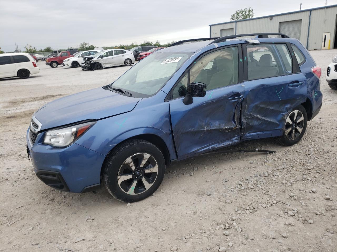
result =
[[[82,136],[96,122],[86,122],[66,128],[49,130],[44,135],[43,143],[53,147],[66,147]]]

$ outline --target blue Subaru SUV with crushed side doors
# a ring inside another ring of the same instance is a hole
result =
[[[118,200],[139,201],[174,160],[248,139],[297,143],[322,106],[320,73],[284,34],[179,41],[110,85],[40,108],[27,152],[36,175],[58,190],[105,186]]]

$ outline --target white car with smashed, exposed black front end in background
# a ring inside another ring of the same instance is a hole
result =
[[[106,67],[131,66],[135,59],[131,51],[108,49],[84,58],[82,70],[100,70]]]

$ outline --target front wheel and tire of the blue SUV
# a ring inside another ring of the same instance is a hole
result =
[[[154,144],[135,139],[117,147],[103,169],[106,190],[117,200],[135,202],[158,189],[165,173],[165,159]]]

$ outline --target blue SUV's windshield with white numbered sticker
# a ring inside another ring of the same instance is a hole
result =
[[[192,55],[190,52],[152,53],[119,77],[111,88],[126,90],[132,97],[145,98],[159,89]]]

